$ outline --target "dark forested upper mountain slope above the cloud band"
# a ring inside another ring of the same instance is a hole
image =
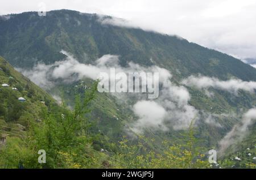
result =
[[[61,49],[81,62],[117,54],[122,65],[129,61],[156,64],[177,77],[200,73],[221,79],[235,76],[256,80],[253,67],[229,55],[175,36],[102,24],[102,19],[111,17],[70,10],[50,11],[46,16],[37,12],[10,15],[9,20],[0,20],[0,54],[11,65],[25,68],[39,61],[63,59]]]

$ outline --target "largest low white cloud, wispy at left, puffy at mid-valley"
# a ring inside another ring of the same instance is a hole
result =
[[[159,72],[159,97],[154,101],[148,101],[145,93],[112,93],[112,95],[122,98],[123,100],[136,100],[134,102],[134,113],[139,119],[136,123],[131,124],[134,130],[143,132],[143,127],[156,127],[159,125],[162,130],[173,127],[176,130],[188,128],[192,119],[196,117],[198,111],[189,105],[190,95],[188,90],[182,85],[176,85],[171,82],[172,75],[164,68],[158,66],[143,67],[133,62],[129,62],[128,66],[119,65],[118,55],[103,55],[97,59],[94,64],[83,64],[77,61],[73,56],[64,50],[61,53],[67,55],[63,61],[58,61],[52,65],[39,63],[31,70],[18,69],[25,76],[30,78],[32,82],[40,87],[50,90],[57,83],[71,83],[82,78],[90,78],[96,80],[100,72],[109,72],[110,68],[115,68],[118,72]],[[146,85],[146,84],[144,84]],[[55,95],[56,96],[56,95]],[[58,99],[59,100],[59,99]],[[152,107],[151,107],[152,105]],[[148,106],[148,113],[159,110],[159,114],[149,115],[145,118],[143,114],[139,114],[138,109]],[[161,115],[164,114],[164,115]],[[146,120],[147,119],[147,120]]]

